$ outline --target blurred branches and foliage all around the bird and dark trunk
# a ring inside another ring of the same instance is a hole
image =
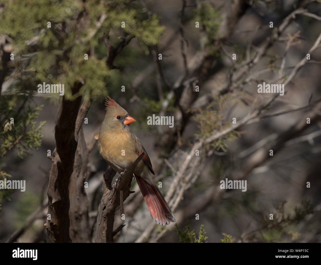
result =
[[[153,222],[134,180],[115,242],[189,242],[186,227],[198,237],[201,225],[203,242],[321,241],[319,1],[46,2],[0,3],[0,178],[26,181],[25,192],[0,189],[1,242],[47,242],[47,155],[63,97],[37,93],[43,82],[92,102],[73,242],[95,237],[107,95],[136,119],[178,225]],[[257,93],[263,82],[285,84],[284,96]],[[174,127],[147,125],[153,114],[174,116]],[[247,180],[247,191],[220,189],[226,178]]]

